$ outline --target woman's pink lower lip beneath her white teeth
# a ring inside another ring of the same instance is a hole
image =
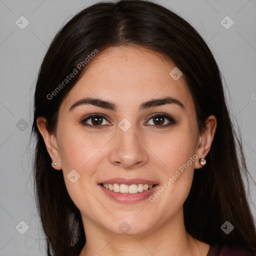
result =
[[[99,185],[99,186],[106,195],[108,195],[115,201],[122,202],[122,203],[133,203],[133,202],[142,201],[145,198],[149,197],[154,192],[155,188],[157,188],[158,185],[154,185],[152,188],[150,188],[148,190],[144,190],[143,192],[137,192],[134,194],[114,192],[114,191],[104,188],[101,185]]]

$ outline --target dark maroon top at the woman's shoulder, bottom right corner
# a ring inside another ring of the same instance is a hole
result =
[[[207,256],[251,256],[251,254],[242,248],[228,247],[226,245],[211,245]]]

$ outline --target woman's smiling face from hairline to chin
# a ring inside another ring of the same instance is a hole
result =
[[[62,101],[50,154],[85,226],[138,234],[182,217],[206,149],[192,96],[181,73],[170,73],[174,67],[142,47],[110,47],[90,60]],[[105,103],[72,107],[88,97]]]

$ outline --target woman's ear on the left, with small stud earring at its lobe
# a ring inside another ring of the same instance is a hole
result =
[[[36,119],[36,124],[37,127],[39,129],[39,132],[41,133],[46,149],[50,155],[50,158],[52,161],[57,162],[57,165],[52,165],[51,166],[56,169],[56,170],[60,170],[62,169],[61,163],[60,163],[60,157],[59,157],[59,151],[58,151],[58,145],[57,145],[57,140],[56,140],[56,136],[54,133],[49,132],[47,130],[47,120],[44,116],[39,116]]]

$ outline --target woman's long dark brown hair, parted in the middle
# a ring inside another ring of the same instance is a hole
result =
[[[85,244],[85,233],[63,173],[51,166],[36,119],[45,116],[47,129],[55,132],[59,106],[87,66],[78,70],[52,99],[47,95],[94,49],[100,52],[118,45],[140,45],[161,53],[182,71],[200,131],[207,116],[213,114],[217,118],[207,164],[203,171],[195,170],[183,205],[187,232],[208,244],[241,246],[256,254],[255,225],[241,175],[247,177],[248,171],[210,49],[187,21],[163,6],[143,0],[120,0],[93,4],[72,17],[52,40],[38,73],[32,125],[36,137],[33,171],[48,256],[78,255]],[[234,226],[228,235],[220,229],[226,220]]]

